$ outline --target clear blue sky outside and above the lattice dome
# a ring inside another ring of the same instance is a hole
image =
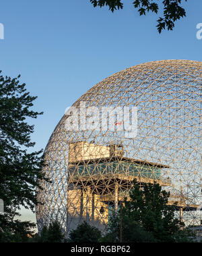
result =
[[[158,16],[139,17],[132,0],[112,14],[94,8],[90,0],[1,1],[0,70],[27,85],[37,95],[34,109],[44,111],[33,120],[34,150],[46,146],[65,108],[104,78],[130,66],[160,59],[202,61],[202,1],[184,3],[187,17],[173,31],[158,34]],[[29,211],[22,218],[34,220]]]

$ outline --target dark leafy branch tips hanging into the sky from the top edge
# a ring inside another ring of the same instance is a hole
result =
[[[90,2],[94,7],[106,5],[112,12],[116,9],[123,9],[123,2],[121,0],[90,0]],[[186,11],[182,7],[183,0],[162,0],[161,2],[164,11],[163,16],[157,20],[158,32],[162,32],[164,29],[173,30],[174,22],[186,16]],[[142,16],[146,15],[146,12],[149,11],[158,14],[161,5],[158,1],[154,0],[135,0],[133,1],[133,6],[138,10],[139,15]]]

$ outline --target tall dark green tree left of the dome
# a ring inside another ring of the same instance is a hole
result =
[[[1,237],[4,233],[15,234],[20,225],[26,232],[28,225],[33,227],[30,222],[15,222],[14,217],[21,206],[34,210],[38,203],[36,187],[44,179],[42,151],[28,153],[35,145],[30,137],[34,126],[28,124],[28,118],[37,118],[42,112],[30,109],[36,97],[30,96],[19,78],[0,76],[0,199],[4,202]]]

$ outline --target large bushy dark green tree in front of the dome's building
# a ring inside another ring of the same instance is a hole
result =
[[[168,205],[170,196],[159,184],[139,184],[134,181],[130,200],[109,222],[104,241],[118,242],[182,242],[188,241],[182,224],[174,217],[174,207]],[[122,228],[121,228],[122,221]],[[122,230],[122,231],[121,231]]]

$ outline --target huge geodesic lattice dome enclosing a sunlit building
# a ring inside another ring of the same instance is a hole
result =
[[[83,220],[104,230],[134,178],[158,182],[184,224],[201,224],[201,89],[202,63],[187,60],[143,63],[90,88],[46,145],[52,182],[37,191],[38,230],[53,220],[66,234]]]

